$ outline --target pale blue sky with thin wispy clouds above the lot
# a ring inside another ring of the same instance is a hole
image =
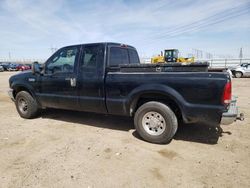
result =
[[[0,59],[42,58],[51,47],[133,45],[250,58],[250,0],[0,0]]]

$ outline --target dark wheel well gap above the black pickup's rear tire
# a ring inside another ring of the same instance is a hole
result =
[[[179,105],[170,97],[168,97],[166,95],[162,95],[162,94],[153,94],[152,93],[152,94],[144,94],[144,95],[140,96],[140,98],[137,100],[137,103],[136,103],[133,111],[136,112],[137,109],[141,105],[145,104],[146,102],[150,102],[150,101],[157,101],[157,102],[161,102],[163,104],[166,104],[175,113],[178,120],[183,119],[182,112],[181,112]]]

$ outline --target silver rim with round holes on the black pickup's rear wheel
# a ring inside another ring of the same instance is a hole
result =
[[[153,136],[161,135],[166,129],[166,121],[158,112],[147,112],[142,118],[144,130]]]

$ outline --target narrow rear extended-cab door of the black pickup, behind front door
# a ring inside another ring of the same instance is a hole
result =
[[[106,113],[104,44],[83,46],[79,62],[79,106],[82,111]]]

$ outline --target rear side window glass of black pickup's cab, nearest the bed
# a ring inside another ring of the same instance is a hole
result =
[[[109,65],[117,66],[121,64],[129,64],[128,50],[126,48],[111,47]]]

